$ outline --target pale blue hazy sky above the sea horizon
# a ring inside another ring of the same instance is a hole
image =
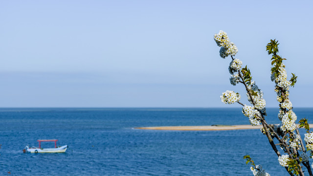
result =
[[[279,41],[294,107],[313,107],[312,0],[1,0],[0,107],[240,107],[228,34],[267,107],[277,107],[266,44]]]

